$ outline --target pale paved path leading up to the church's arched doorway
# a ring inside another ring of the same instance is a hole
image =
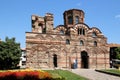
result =
[[[72,72],[90,80],[120,80],[120,77],[96,72],[93,69],[73,69]]]

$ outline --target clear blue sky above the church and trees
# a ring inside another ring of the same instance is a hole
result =
[[[85,23],[97,27],[108,43],[120,44],[120,0],[0,0],[0,38],[15,37],[25,48],[25,32],[31,32],[31,15],[54,14],[54,27],[63,24],[63,12],[82,9]]]

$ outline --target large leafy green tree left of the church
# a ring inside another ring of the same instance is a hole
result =
[[[20,43],[15,38],[0,42],[0,69],[15,69],[19,64],[21,56]]]

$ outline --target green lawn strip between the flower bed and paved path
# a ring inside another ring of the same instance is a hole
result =
[[[49,72],[50,74],[53,74],[53,76],[58,75],[64,77],[65,80],[88,80],[87,78],[81,77],[67,70],[45,70],[45,71]]]

